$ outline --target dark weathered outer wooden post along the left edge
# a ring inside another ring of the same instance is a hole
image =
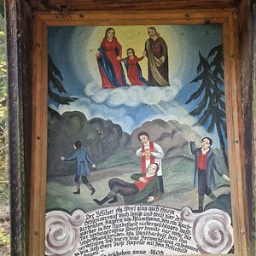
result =
[[[12,255],[26,255],[31,153],[32,11],[26,2],[21,0],[6,1],[5,9],[9,85],[11,252]]]

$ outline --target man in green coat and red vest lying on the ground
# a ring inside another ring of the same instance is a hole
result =
[[[125,182],[119,178],[112,178],[108,182],[110,192],[101,201],[94,199],[97,205],[102,206],[105,202],[116,202],[117,195],[123,195],[126,204],[138,201],[156,201],[160,198],[160,184],[156,176],[159,169],[158,164],[153,163],[148,166],[146,173],[136,173],[131,175],[134,183]]]

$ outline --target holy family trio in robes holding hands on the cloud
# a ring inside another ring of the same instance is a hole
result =
[[[154,26],[148,27],[148,40],[141,57],[137,57],[135,50],[128,48],[127,57],[122,58],[122,45],[115,36],[113,27],[108,27],[100,48],[96,51],[97,63],[102,77],[102,88],[118,88],[131,85],[168,86],[168,52],[167,45]],[[142,69],[138,61],[148,58],[148,81],[143,78]],[[127,77],[121,61],[124,61]]]

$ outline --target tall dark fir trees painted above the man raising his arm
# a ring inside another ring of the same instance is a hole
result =
[[[212,59],[212,61],[208,61]],[[224,104],[224,66],[223,47],[218,45],[211,49],[207,59],[199,52],[198,76],[190,84],[195,83],[198,89],[189,96],[186,104],[196,101],[197,107],[189,112],[199,119],[194,125],[206,126],[208,132],[214,127],[218,133],[220,148],[224,156],[224,163],[229,168],[228,156],[225,150],[227,138],[226,115]]]

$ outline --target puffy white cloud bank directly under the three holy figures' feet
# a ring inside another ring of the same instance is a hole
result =
[[[102,89],[96,81],[91,81],[84,87],[84,93],[96,103],[107,101],[108,106],[118,107],[126,105],[135,107],[140,103],[156,105],[160,102],[170,102],[182,87],[179,79],[173,79],[171,86],[131,86],[116,89]]]

